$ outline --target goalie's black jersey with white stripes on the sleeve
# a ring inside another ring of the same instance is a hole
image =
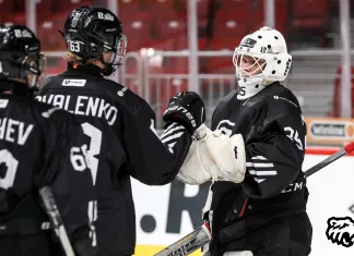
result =
[[[306,124],[296,97],[278,82],[246,100],[236,96],[233,92],[219,103],[212,130],[243,135],[246,176],[239,184],[212,185],[213,245],[305,211],[308,196],[302,171]]]

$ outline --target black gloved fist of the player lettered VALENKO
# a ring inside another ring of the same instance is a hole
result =
[[[178,122],[191,134],[205,121],[205,107],[193,92],[182,92],[169,99],[164,113],[165,122]]]

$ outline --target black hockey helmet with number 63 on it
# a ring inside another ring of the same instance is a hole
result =
[[[122,34],[121,22],[105,8],[81,7],[73,10],[64,24],[67,50],[82,58],[99,59],[104,64],[102,73],[113,74],[121,64],[127,38]],[[103,53],[110,53],[109,60]]]

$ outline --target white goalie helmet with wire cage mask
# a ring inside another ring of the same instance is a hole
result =
[[[284,81],[288,74],[292,56],[283,35],[270,27],[243,38],[235,49],[233,62],[238,81],[237,99],[247,99],[275,81]]]

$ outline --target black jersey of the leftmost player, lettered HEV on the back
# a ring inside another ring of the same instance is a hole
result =
[[[72,114],[0,94],[0,255],[57,255],[58,244],[48,247],[55,235],[47,231],[49,218],[39,203],[38,190],[45,185],[52,190],[73,246],[92,245],[92,178],[84,156],[74,153],[84,143]]]

